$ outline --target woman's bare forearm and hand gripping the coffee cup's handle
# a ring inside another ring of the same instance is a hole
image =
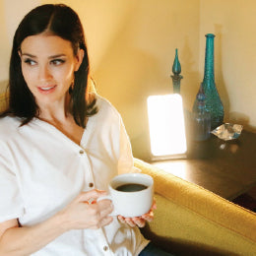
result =
[[[111,201],[96,202],[105,194],[99,190],[82,192],[65,209],[39,224],[19,227],[17,220],[0,224],[0,255],[31,255],[70,229],[96,229],[110,224]]]

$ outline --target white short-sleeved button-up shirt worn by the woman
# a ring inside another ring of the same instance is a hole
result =
[[[81,191],[107,190],[111,178],[131,171],[130,142],[119,113],[100,96],[96,105],[80,145],[37,118],[22,127],[19,118],[0,119],[0,222],[41,223]],[[114,218],[96,230],[67,231],[32,255],[132,256],[147,244],[138,227]]]

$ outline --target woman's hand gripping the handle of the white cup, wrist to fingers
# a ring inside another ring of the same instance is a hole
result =
[[[71,202],[59,216],[63,219],[64,228],[70,229],[96,229],[110,224],[112,217],[108,215],[113,211],[110,200],[96,199],[106,195],[100,190],[82,192],[73,202]]]

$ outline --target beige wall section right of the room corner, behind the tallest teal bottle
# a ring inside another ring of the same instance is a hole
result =
[[[256,131],[256,1],[200,2],[200,69],[203,34],[216,34],[216,83],[224,102],[225,121]]]

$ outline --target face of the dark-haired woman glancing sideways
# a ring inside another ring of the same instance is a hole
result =
[[[38,106],[65,102],[84,51],[75,56],[69,40],[41,33],[26,37],[19,54],[24,79]]]

